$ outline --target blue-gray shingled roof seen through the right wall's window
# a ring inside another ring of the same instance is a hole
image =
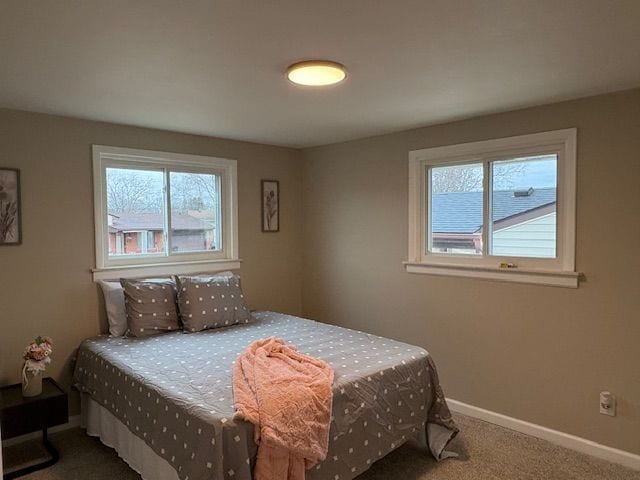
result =
[[[482,228],[482,192],[451,192],[433,195],[434,233],[476,233]],[[514,190],[493,194],[493,221],[504,220],[555,203],[555,188],[532,189],[530,195],[515,196]]]

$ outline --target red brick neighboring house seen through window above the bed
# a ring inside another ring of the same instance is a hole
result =
[[[218,248],[212,216],[199,213],[171,216],[171,248],[201,251]],[[164,251],[164,217],[159,213],[109,214],[109,254],[130,255]]]

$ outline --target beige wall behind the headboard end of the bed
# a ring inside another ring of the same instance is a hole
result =
[[[0,167],[21,170],[23,221],[23,245],[0,247],[0,384],[19,381],[22,350],[38,334],[54,339],[51,374],[68,384],[74,349],[104,330],[90,274],[92,144],[237,159],[240,273],[248,303],[300,312],[297,150],[0,109]],[[280,180],[277,234],[261,232],[262,178]]]

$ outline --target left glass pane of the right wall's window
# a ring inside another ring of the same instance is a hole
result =
[[[435,167],[430,172],[430,251],[481,255],[482,164]]]

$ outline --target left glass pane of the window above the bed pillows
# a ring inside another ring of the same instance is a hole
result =
[[[107,168],[109,256],[164,252],[161,170]]]

